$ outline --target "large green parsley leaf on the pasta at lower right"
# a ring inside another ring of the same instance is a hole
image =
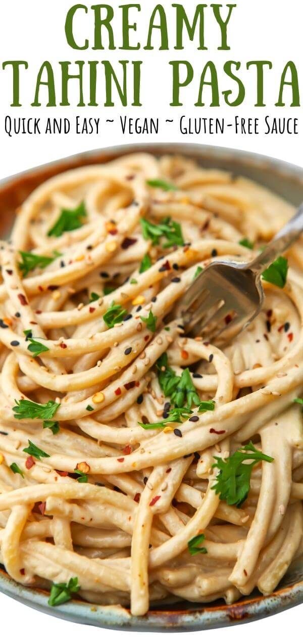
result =
[[[247,452],[247,453],[244,453]],[[216,463],[213,468],[219,470],[216,476],[216,483],[211,487],[220,500],[225,500],[228,505],[241,506],[250,492],[251,471],[255,464],[260,461],[273,462],[274,458],[264,455],[258,451],[250,442],[245,447],[238,449],[229,458],[223,459],[214,456]],[[244,462],[251,460],[249,464]]]

